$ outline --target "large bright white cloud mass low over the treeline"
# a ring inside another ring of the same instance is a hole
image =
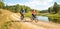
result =
[[[53,0],[29,0],[29,2],[25,2],[25,3],[16,3],[16,4],[20,4],[20,5],[26,5],[29,6],[33,9],[47,9],[48,7],[52,6],[52,4],[50,4],[51,2],[53,2]],[[15,5],[15,4],[9,4],[9,5]],[[39,7],[38,7],[39,6]]]

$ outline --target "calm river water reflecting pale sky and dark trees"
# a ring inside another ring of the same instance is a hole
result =
[[[60,18],[57,17],[45,17],[45,16],[37,16],[38,20],[41,21],[47,21],[47,22],[55,22],[55,23],[60,23]]]

